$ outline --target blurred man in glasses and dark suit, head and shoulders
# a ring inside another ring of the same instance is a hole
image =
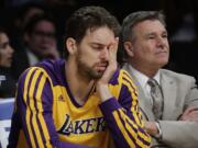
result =
[[[56,24],[51,15],[37,14],[26,23],[23,33],[23,48],[14,55],[13,72],[15,78],[18,79],[28,67],[46,58],[59,58]]]

